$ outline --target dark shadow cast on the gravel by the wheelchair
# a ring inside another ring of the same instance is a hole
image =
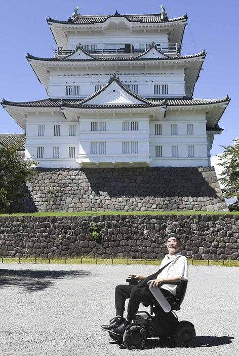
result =
[[[196,347],[213,347],[230,344],[234,337],[232,336],[196,336],[195,341],[192,346],[189,348]],[[111,344],[118,343],[117,341],[111,341]],[[119,348],[124,348],[125,346],[121,343],[119,344]],[[147,339],[144,349],[152,349],[152,348],[177,348],[177,346],[173,339],[169,339],[167,341],[161,341],[159,339]]]

